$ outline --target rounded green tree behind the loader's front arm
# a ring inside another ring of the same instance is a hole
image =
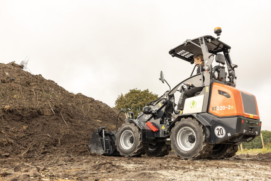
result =
[[[135,118],[137,118],[138,114],[142,112],[142,108],[145,107],[147,103],[156,99],[158,99],[158,95],[153,94],[148,89],[141,91],[140,89],[135,88],[131,89],[125,95],[119,95],[115,101],[115,107],[127,112],[132,111]]]

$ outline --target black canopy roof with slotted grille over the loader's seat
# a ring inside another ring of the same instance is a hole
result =
[[[231,47],[226,43],[223,43],[219,40],[216,40],[215,37],[210,35],[203,36],[206,42],[206,46],[209,53],[217,54],[219,52],[229,52]],[[176,56],[180,59],[183,59],[191,64],[194,63],[193,56],[202,54],[201,46],[200,46],[200,39],[201,37],[195,38],[193,40],[186,40],[179,46],[171,49],[169,54],[171,56]],[[229,62],[231,63],[231,62]]]

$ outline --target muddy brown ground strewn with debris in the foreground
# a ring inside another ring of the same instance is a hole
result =
[[[1,159],[0,180],[271,180],[270,161],[271,153],[222,160],[181,160],[173,152],[136,158],[48,154]]]

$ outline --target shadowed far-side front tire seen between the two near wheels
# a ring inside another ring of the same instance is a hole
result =
[[[146,155],[149,157],[164,157],[169,154],[170,145],[164,142],[157,142],[155,145],[149,144],[146,148]]]

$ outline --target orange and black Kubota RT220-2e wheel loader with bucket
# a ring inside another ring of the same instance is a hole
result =
[[[261,121],[256,98],[235,88],[237,65],[232,64],[229,56],[231,47],[219,40],[220,27],[214,31],[216,38],[207,35],[186,40],[169,51],[172,57],[191,64],[194,55],[202,54],[204,69],[201,73],[192,75],[193,70],[190,77],[148,103],[137,119],[132,112],[126,113],[129,117],[118,131],[105,131],[100,127],[92,135],[89,150],[136,157],[142,154],[165,156],[173,149],[182,159],[227,158],[235,155],[242,142],[259,136]],[[213,66],[215,62],[218,65]],[[160,80],[165,81],[162,71]],[[182,95],[191,84],[203,90],[185,100],[180,114]],[[181,96],[175,104],[177,91]]]

